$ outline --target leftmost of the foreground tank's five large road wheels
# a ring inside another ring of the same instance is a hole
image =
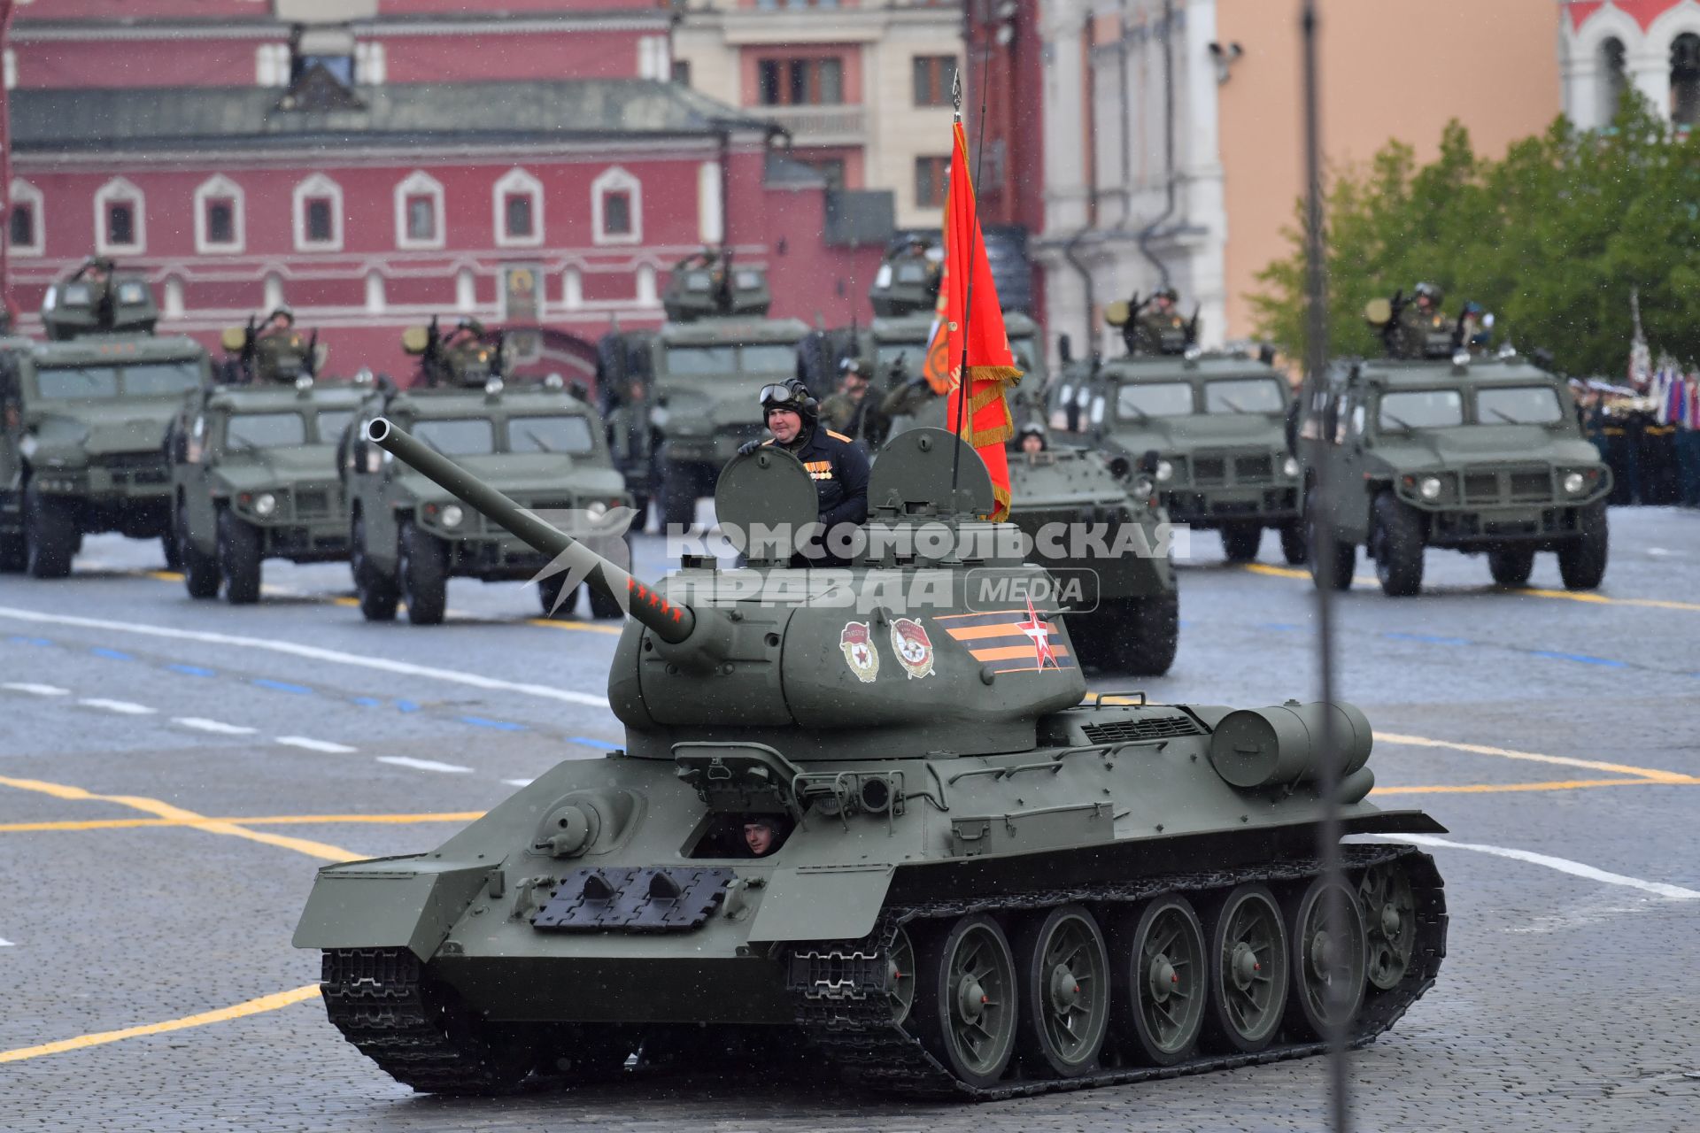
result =
[[[998,922],[962,917],[925,941],[916,956],[915,1029],[969,1085],[993,1085],[1015,1050],[1015,956]]]

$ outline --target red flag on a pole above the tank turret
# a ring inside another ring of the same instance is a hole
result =
[[[979,452],[991,472],[991,489],[998,499],[991,518],[1010,515],[1010,462],[1003,443],[1015,435],[1005,387],[1022,379],[1010,353],[1010,335],[1003,330],[998,285],[991,282],[991,262],[979,233],[974,207],[974,183],[967,175],[967,136],[962,122],[952,129],[950,183],[945,199],[945,270],[938,285],[938,330],[926,360],[926,377],[938,389],[949,389],[947,423],[952,431]],[[964,340],[967,347],[967,423],[962,413]],[[942,391],[944,392],[944,391]]]

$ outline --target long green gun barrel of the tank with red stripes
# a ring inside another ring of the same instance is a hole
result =
[[[505,527],[539,554],[563,562],[570,578],[581,576],[586,586],[622,605],[627,603],[629,596],[627,612],[661,640],[678,644],[690,637],[695,629],[697,615],[690,606],[668,601],[617,564],[554,525],[542,521],[536,513],[513,503],[406,430],[396,428],[389,420],[372,418],[366,426],[366,438],[444,491],[452,493],[466,506]]]

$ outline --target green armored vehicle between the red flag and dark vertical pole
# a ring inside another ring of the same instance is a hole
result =
[[[1280,532],[1287,562],[1304,562],[1299,460],[1284,433],[1287,379],[1263,358],[1204,353],[1190,340],[1139,353],[1129,306],[1105,313],[1122,328],[1127,355],[1066,370],[1052,391],[1052,425],[1130,460],[1154,452],[1170,516],[1217,528],[1229,562],[1256,559],[1266,527]]]

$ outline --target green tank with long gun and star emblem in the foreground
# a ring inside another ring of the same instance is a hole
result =
[[[1365,1043],[1433,984],[1433,861],[1346,844],[1336,899],[1316,856],[1328,754],[1346,834],[1442,831],[1365,802],[1363,715],[1086,696],[1061,618],[972,601],[974,578],[1040,567],[976,518],[971,450],[950,488],[950,433],[887,445],[853,567],[751,538],[748,566],[687,559],[666,595],[388,421],[369,437],[632,613],[622,751],[434,851],[318,875],[296,946],[401,1082],[593,1080],[670,1034],[765,1033],[874,1087],[1000,1097],[1318,1053],[1329,1011]],[[816,503],[760,448],[716,506],[779,525]]]

